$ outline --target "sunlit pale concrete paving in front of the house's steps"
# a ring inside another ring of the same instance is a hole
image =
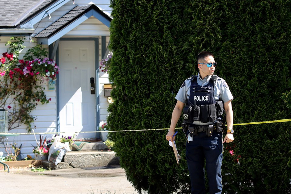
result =
[[[32,172],[31,168],[0,167],[0,193],[5,194],[136,194],[118,166]]]

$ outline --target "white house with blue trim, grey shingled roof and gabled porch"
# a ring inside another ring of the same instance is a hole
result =
[[[109,0],[0,0],[0,57],[11,36],[25,37],[21,55],[37,42],[49,49],[49,58],[60,68],[55,89],[49,90],[48,82],[44,84],[45,94],[52,100],[32,111],[35,132],[95,132],[99,123],[106,121],[109,102],[104,84],[109,80],[108,74],[99,72],[99,61],[109,52],[109,4]],[[95,94],[91,94],[91,83]],[[9,131],[25,132],[25,125]],[[100,133],[77,134],[77,138],[99,137]],[[22,144],[22,157],[32,155],[34,135],[7,138],[8,144]]]

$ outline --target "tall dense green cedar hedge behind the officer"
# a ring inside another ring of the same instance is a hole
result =
[[[168,128],[175,95],[197,74],[203,50],[215,55],[234,96],[234,123],[291,118],[289,0],[112,0],[111,8],[110,130]],[[291,193],[290,126],[235,125],[235,141],[224,144],[223,191]],[[166,130],[109,133],[139,193],[189,193],[178,131],[179,166]]]

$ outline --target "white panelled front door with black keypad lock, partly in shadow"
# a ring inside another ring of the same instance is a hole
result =
[[[96,131],[94,41],[59,42],[59,122],[60,132]],[[96,133],[79,133],[77,138],[95,138]]]

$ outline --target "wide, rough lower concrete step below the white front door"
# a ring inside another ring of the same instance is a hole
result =
[[[71,151],[65,154],[62,162],[58,165],[47,160],[43,160],[42,165],[50,169],[119,165],[119,157],[115,156],[113,151]]]

